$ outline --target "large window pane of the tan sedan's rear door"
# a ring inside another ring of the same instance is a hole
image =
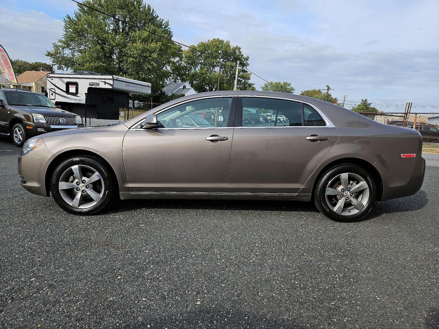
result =
[[[262,97],[242,98],[242,126],[302,125],[302,104]]]

